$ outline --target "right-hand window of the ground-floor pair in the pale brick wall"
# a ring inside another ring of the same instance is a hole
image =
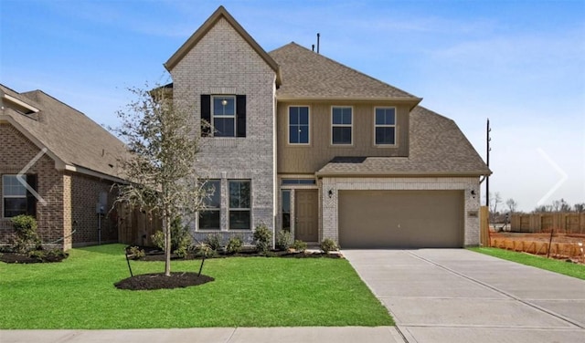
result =
[[[229,181],[229,230],[250,230],[250,181]]]

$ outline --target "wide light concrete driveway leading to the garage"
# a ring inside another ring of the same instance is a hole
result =
[[[585,342],[585,281],[464,249],[346,250],[408,342]]]

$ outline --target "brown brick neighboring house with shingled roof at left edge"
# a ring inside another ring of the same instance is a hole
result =
[[[43,243],[62,249],[117,242],[108,212],[122,141],[40,90],[0,85],[0,106],[0,245],[12,243],[18,214],[35,216]]]

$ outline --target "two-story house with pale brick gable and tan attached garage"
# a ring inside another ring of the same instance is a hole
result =
[[[267,53],[223,6],[165,68],[216,190],[197,237],[264,223],[344,248],[479,244],[490,171],[420,98],[295,43]]]

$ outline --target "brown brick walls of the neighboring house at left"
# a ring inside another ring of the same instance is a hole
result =
[[[20,131],[10,124],[0,123],[0,174],[17,174],[39,153],[42,153],[41,150]],[[90,219],[87,219],[89,215],[85,213],[89,203],[93,203],[90,209],[95,216],[95,200],[91,199],[88,190],[109,190],[112,182],[58,170],[55,161],[47,153],[42,153],[27,173],[37,175],[37,192],[46,202],[37,202],[38,233],[43,243],[67,250],[72,245],[97,242],[97,239],[90,240],[90,233],[97,233],[97,219],[95,224],[90,223]],[[75,223],[81,223],[83,229],[80,230],[81,234],[76,232],[71,235]],[[108,223],[106,232],[108,241],[117,241],[115,226]],[[13,240],[12,223],[2,214],[0,245],[12,244]]]

